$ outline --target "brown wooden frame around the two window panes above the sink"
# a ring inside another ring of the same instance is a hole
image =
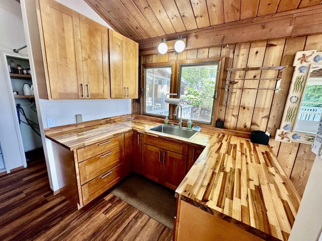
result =
[[[217,98],[214,98],[214,104],[213,104],[213,110],[212,110],[212,118],[211,123],[202,123],[202,122],[194,122],[205,126],[212,126],[215,127],[215,121],[221,117],[220,114],[220,103],[224,102],[224,98],[227,95],[227,92],[224,91],[222,86],[225,84],[225,78],[227,76],[227,71],[224,71],[224,65],[225,65],[225,57],[217,57],[217,58],[206,58],[206,59],[189,59],[189,60],[180,60],[180,61],[168,61],[168,62],[158,62],[158,63],[147,63],[147,64],[141,64],[141,78],[140,78],[140,86],[141,86],[141,101],[140,101],[140,114],[144,116],[151,116],[151,117],[158,117],[163,118],[163,116],[155,115],[155,114],[148,114],[144,113],[145,108],[145,83],[144,83],[144,68],[148,67],[166,67],[171,66],[172,67],[172,74],[171,74],[171,85],[170,85],[170,92],[171,93],[177,93],[178,96],[180,96],[180,89],[179,89],[179,66],[183,64],[201,64],[201,63],[209,63],[209,62],[218,62],[218,74],[217,74],[217,82],[216,82],[216,88],[217,91]],[[217,100],[217,101],[215,101]],[[177,121],[176,116],[173,115],[173,112],[175,111],[176,106],[171,104],[169,106],[169,119],[172,121]],[[224,111],[223,111],[224,113]],[[224,116],[221,118],[223,119]]]

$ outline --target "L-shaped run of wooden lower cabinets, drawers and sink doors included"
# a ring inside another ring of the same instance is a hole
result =
[[[60,192],[82,208],[131,172],[176,189],[203,148],[128,132],[69,151],[53,143]]]

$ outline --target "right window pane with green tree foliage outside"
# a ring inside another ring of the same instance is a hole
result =
[[[212,62],[180,65],[179,88],[183,119],[211,123],[218,64]]]

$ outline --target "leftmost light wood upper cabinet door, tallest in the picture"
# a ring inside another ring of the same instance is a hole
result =
[[[49,99],[82,98],[83,66],[78,13],[54,0],[41,0],[44,67]]]

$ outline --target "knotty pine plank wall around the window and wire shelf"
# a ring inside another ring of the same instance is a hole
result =
[[[274,137],[275,131],[280,127],[284,106],[293,74],[293,60],[297,51],[322,51],[322,35],[311,35],[287,39],[274,39],[225,45],[211,48],[199,48],[179,53],[173,52],[165,55],[152,54],[141,56],[141,63],[158,63],[179,61],[186,59],[202,59],[213,57],[226,57],[225,69],[239,67],[261,66],[289,66],[284,70],[281,90],[230,89],[224,90],[224,73],[221,88],[216,101],[220,101],[218,118],[224,120],[225,129],[252,132],[254,130],[268,131]],[[205,43],[205,45],[207,45]],[[239,72],[240,73],[240,72]],[[244,72],[245,73],[245,72]],[[243,87],[274,88],[276,81],[255,80],[260,72],[247,72],[248,76],[235,76],[236,78],[254,78],[254,80],[240,81],[237,85]],[[262,78],[276,78],[276,71],[262,73]],[[234,86],[236,87],[236,86]],[[133,112],[138,113],[138,106],[133,101]],[[303,194],[305,184],[315,158],[310,151],[311,146],[299,143],[281,143],[271,139],[270,146],[277,156],[285,173],[290,177],[294,186]]]

